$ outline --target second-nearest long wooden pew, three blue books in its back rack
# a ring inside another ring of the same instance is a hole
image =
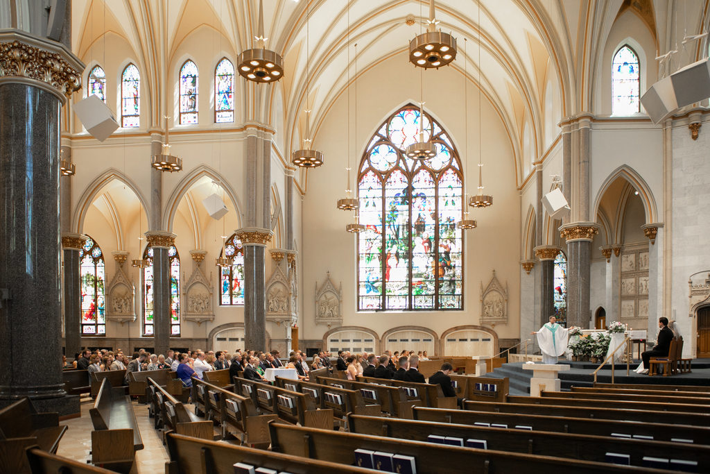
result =
[[[271,422],[274,452],[334,463],[355,463],[356,449],[396,453],[415,458],[418,473],[669,473],[668,470],[631,468],[586,460],[536,456],[504,451],[461,448],[437,443],[393,439],[383,436],[308,429]],[[563,448],[563,447],[559,447]]]

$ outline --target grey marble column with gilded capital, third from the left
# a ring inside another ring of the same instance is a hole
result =
[[[244,347],[266,349],[266,244],[273,232],[246,227],[236,230],[244,247]]]

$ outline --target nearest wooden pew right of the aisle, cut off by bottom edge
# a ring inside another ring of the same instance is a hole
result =
[[[371,469],[205,441],[176,433],[168,433],[166,441],[170,460],[165,463],[165,474],[233,474],[235,463],[291,474],[376,474]]]

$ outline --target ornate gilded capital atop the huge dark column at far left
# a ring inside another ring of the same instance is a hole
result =
[[[61,43],[24,31],[0,31],[0,83],[25,83],[57,96],[62,104],[82,87],[84,64]]]

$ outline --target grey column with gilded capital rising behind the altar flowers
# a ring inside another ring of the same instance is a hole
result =
[[[559,229],[567,241],[567,327],[589,328],[591,241],[599,226],[594,222],[574,222]]]

